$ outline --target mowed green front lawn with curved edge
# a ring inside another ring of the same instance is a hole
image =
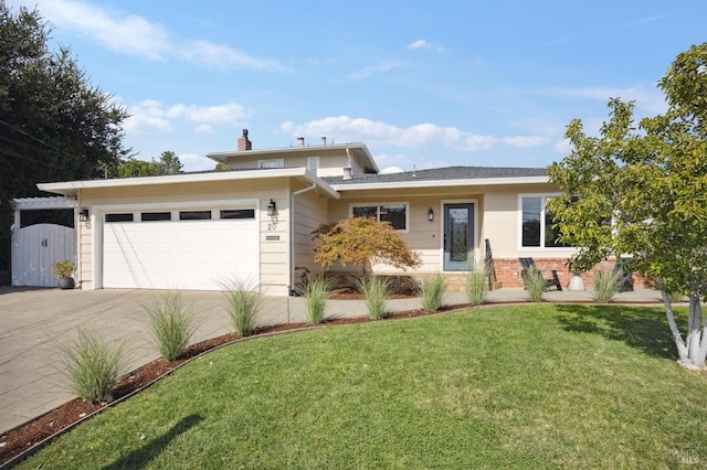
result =
[[[707,378],[677,366],[673,349],[661,309],[620,306],[483,308],[262,338],[188,364],[22,467],[704,463]]]

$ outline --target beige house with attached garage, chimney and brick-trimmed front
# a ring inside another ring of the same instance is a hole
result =
[[[318,273],[312,232],[368,215],[389,221],[420,253],[414,274],[463,274],[493,253],[496,280],[520,287],[519,258],[564,266],[545,205],[558,189],[544,168],[452,167],[380,172],[363,143],[252,148],[208,158],[228,170],[41,183],[76,200],[77,282],[83,289],[218,290],[243,279],[286,296],[295,267]],[[374,266],[381,274],[400,273]]]

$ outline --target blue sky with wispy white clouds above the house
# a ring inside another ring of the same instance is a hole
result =
[[[704,0],[145,1],[36,6],[131,117],[137,158],[365,142],[381,169],[545,167],[610,97],[665,110],[657,81],[707,41]]]

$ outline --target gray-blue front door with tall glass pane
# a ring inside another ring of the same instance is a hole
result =
[[[474,204],[444,204],[444,270],[466,271],[474,264]]]

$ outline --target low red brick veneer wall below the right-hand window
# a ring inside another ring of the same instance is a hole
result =
[[[532,258],[538,269],[542,271],[556,270],[562,289],[567,289],[572,278],[572,274],[567,270],[567,258]],[[615,261],[602,261],[594,267],[592,271],[582,273],[582,280],[585,288],[592,287],[592,280],[594,271],[598,270],[612,270]],[[523,265],[518,258],[494,258],[494,270],[496,271],[496,280],[503,282],[503,287],[523,287]],[[549,278],[549,274],[548,274]],[[634,273],[632,276],[634,289],[650,289],[653,288],[651,279],[642,276],[640,273]]]

